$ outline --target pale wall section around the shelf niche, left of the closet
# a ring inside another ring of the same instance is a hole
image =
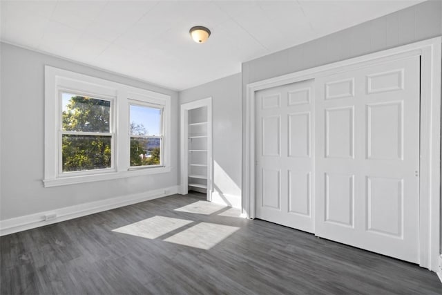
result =
[[[179,93],[180,104],[212,97],[213,202],[241,206],[241,74]]]

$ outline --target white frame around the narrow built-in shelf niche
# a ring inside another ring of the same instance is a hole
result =
[[[181,105],[181,134],[180,134],[180,193],[186,195],[188,192],[188,168],[189,168],[189,111],[194,108],[207,107],[207,200],[211,202],[213,192],[213,156],[212,156],[212,97],[198,99]]]

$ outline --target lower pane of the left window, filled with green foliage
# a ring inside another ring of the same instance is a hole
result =
[[[63,172],[111,168],[111,136],[63,135]]]

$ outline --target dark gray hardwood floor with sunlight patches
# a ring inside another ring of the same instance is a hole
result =
[[[442,294],[417,265],[316,238],[205,195],[1,237],[1,294]]]

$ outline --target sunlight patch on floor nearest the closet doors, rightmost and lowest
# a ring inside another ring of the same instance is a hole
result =
[[[189,247],[209,250],[217,245],[235,231],[239,227],[231,227],[228,225],[217,225],[215,223],[201,222],[188,229],[184,229],[178,234],[166,238],[166,242],[173,242]]]

